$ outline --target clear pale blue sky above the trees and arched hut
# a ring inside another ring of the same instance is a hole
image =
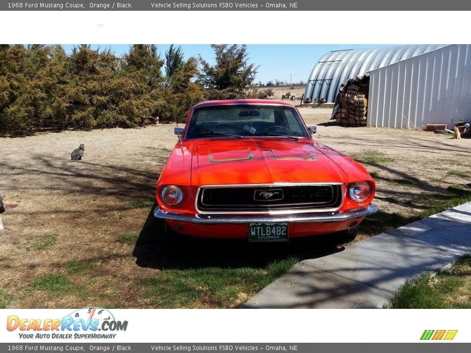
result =
[[[331,50],[362,49],[389,47],[381,44],[248,44],[247,52],[249,63],[260,65],[255,77],[255,83],[262,81],[284,81],[286,83],[306,82],[309,75],[322,55]],[[66,52],[70,53],[74,45],[63,45]],[[129,50],[129,44],[101,44],[92,48],[110,48],[117,56],[122,56]],[[165,51],[170,45],[157,44],[160,56],[165,57]],[[210,64],[214,63],[214,52],[209,44],[183,44],[181,45],[186,58],[198,57],[200,54]],[[291,81],[290,81],[291,80]]]

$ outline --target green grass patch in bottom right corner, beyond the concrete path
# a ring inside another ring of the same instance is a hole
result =
[[[424,273],[408,280],[394,295],[391,309],[470,309],[471,255],[465,255],[449,269]]]

